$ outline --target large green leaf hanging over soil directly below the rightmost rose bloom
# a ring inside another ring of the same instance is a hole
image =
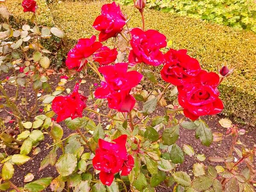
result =
[[[201,143],[207,147],[209,147],[213,141],[212,130],[208,127],[208,125],[200,121],[198,128],[196,129],[196,138],[200,138]]]

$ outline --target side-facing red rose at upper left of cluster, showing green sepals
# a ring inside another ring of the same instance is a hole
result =
[[[78,40],[76,46],[67,54],[66,65],[68,69],[75,68],[77,71],[83,69],[84,64],[88,62],[87,58],[102,47],[100,42],[95,41],[95,35],[93,35],[90,39],[85,38]]]

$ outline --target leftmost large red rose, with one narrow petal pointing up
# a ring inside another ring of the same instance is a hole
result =
[[[52,111],[57,113],[57,122],[71,117],[82,117],[82,111],[86,108],[87,97],[78,93],[79,84],[77,83],[73,93],[69,96],[57,96],[52,101]]]

